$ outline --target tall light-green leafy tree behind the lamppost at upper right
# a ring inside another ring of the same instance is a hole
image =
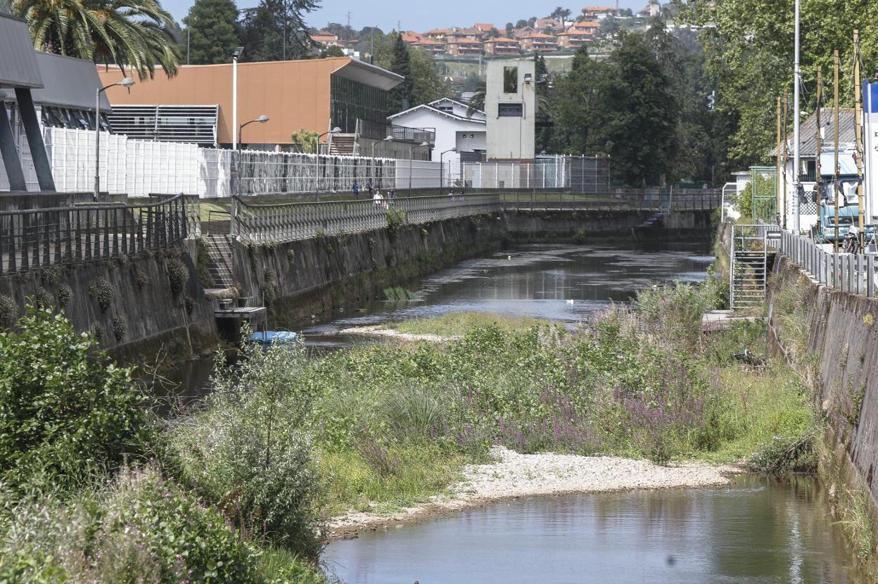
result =
[[[793,3],[760,0],[688,0],[679,19],[702,28],[706,67],[716,80],[716,108],[730,124],[729,156],[746,166],[764,160],[774,145],[776,99],[792,94]],[[860,30],[863,61],[878,59],[878,3],[870,0],[802,0],[804,111],[813,110],[817,65],[831,90],[832,50],[841,51],[841,96],[853,101],[854,29]],[[746,17],[742,17],[746,15]],[[824,95],[825,95],[824,91]]]

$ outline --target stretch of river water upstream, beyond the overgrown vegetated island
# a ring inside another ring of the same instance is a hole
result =
[[[574,323],[611,303],[628,302],[658,282],[704,279],[713,261],[703,246],[617,249],[529,245],[458,263],[424,278],[407,304],[378,302],[356,307],[303,331],[308,342],[344,344],[343,328],[479,311]],[[572,304],[571,301],[572,300]]]

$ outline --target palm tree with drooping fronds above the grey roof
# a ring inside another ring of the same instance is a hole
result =
[[[33,47],[48,53],[131,69],[146,79],[161,65],[176,75],[180,49],[174,25],[157,0],[12,0],[27,21]]]

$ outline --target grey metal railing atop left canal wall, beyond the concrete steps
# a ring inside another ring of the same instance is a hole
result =
[[[500,195],[466,195],[254,205],[234,198],[232,234],[256,244],[427,223],[500,210]]]

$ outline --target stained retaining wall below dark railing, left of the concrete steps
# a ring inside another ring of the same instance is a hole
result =
[[[172,271],[182,282],[177,293]],[[96,333],[101,348],[122,361],[149,361],[162,347],[179,361],[189,356],[189,339],[196,353],[217,340],[212,302],[196,274],[190,253],[177,248],[4,276],[0,325],[23,314],[30,297],[63,310],[77,332]]]

